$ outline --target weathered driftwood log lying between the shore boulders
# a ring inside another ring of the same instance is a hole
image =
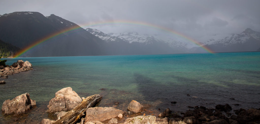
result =
[[[86,99],[82,100],[78,106],[70,110],[66,115],[62,116],[60,120],[57,120],[53,124],[73,124],[77,122],[89,107],[96,105],[101,99],[102,96],[99,94],[88,96]]]

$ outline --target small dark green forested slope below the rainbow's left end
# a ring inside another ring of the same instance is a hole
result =
[[[7,58],[12,57],[20,48],[15,47],[10,43],[5,43],[0,39],[0,57]]]

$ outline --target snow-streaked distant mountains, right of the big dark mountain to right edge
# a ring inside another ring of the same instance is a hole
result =
[[[127,43],[125,45],[132,47],[133,44],[135,44],[135,47],[139,44],[139,48],[141,48],[141,45],[142,47],[153,46],[153,48],[157,48],[158,50],[160,47],[162,48],[162,46],[167,46],[168,51],[174,51],[172,53],[207,52],[194,43],[187,42],[176,37],[164,37],[158,35],[153,36],[139,34],[137,32],[105,34],[96,29],[87,28],[86,30],[108,43],[115,41],[124,42]],[[260,32],[253,31],[248,28],[241,34],[215,34],[211,36],[204,36],[197,41],[200,41],[201,46],[205,46],[214,52],[257,51],[260,48]]]

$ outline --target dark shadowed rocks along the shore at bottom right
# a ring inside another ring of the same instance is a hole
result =
[[[244,123],[260,123],[260,110],[259,109],[240,109],[235,110],[235,114],[229,113],[232,110],[231,106],[217,105],[215,109],[206,108],[203,106],[192,107],[194,110],[189,110],[184,116],[179,116],[171,113],[170,109],[166,109],[163,113],[159,114],[160,118],[168,117],[173,118],[169,120],[169,124],[183,121],[186,124],[244,124]],[[226,117],[222,112],[225,112]],[[167,120],[167,119],[165,119]]]

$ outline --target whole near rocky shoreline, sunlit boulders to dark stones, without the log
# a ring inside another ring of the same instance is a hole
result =
[[[86,98],[87,99],[87,98]],[[49,101],[48,113],[57,114],[57,120],[63,119],[70,110],[79,106],[84,97],[80,98],[72,88],[67,87],[55,93],[55,97]],[[17,105],[17,101],[20,106]],[[102,102],[102,101],[101,101]],[[13,100],[6,100],[3,103],[2,111],[4,114],[26,113],[30,108],[36,105],[34,100],[30,99],[28,93],[17,96]],[[119,110],[114,107],[92,107],[84,112],[82,117],[77,117],[78,124],[256,124],[260,123],[260,110],[243,108],[232,110],[232,107],[226,105],[216,105],[215,108],[206,108],[204,106],[190,107],[185,113],[178,114],[175,110],[167,108],[158,116],[144,108],[139,102],[132,100],[125,110]],[[19,111],[18,111],[19,110]],[[126,111],[127,110],[127,111]],[[67,112],[65,112],[67,111]],[[233,112],[234,114],[232,114]],[[41,124],[52,124],[57,120],[42,119]]]

